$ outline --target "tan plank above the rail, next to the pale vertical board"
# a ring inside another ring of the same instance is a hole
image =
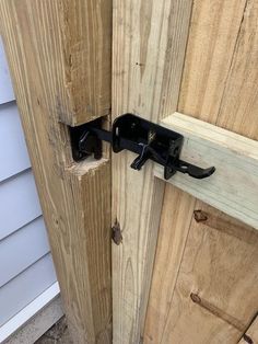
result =
[[[246,0],[195,1],[179,112],[215,124]]]

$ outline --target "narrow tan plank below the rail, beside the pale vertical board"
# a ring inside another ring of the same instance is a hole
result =
[[[152,317],[146,318],[144,344],[162,342],[163,326],[169,313],[195,202],[195,197],[183,193],[179,188],[173,185],[166,186],[155,254],[155,262],[159,264],[154,265],[148,309]]]

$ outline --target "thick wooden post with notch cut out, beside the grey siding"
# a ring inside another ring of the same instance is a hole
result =
[[[2,0],[0,23],[74,343],[112,343],[110,167],[68,128],[108,113],[110,1]],[[105,51],[105,54],[104,54]]]

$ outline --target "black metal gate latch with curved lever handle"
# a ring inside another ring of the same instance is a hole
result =
[[[204,179],[214,173],[215,168],[201,169],[179,159],[184,136],[168,130],[132,114],[117,117],[112,131],[101,127],[102,121],[86,123],[70,128],[72,153],[75,161],[94,156],[102,158],[102,141],[110,142],[115,153],[124,149],[138,154],[131,163],[134,170],[141,170],[148,160],[164,167],[164,179],[176,172],[187,173],[195,179]]]

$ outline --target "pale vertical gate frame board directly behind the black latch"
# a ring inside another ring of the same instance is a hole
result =
[[[114,1],[113,118],[131,112],[157,122],[175,110],[190,10],[186,0]],[[113,157],[113,221],[122,234],[113,244],[115,344],[139,343],[143,332],[164,191],[151,163],[130,169],[134,158]]]

